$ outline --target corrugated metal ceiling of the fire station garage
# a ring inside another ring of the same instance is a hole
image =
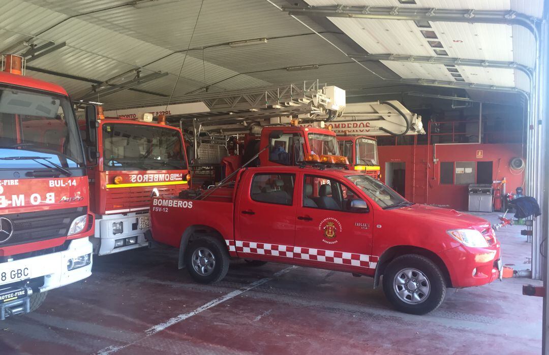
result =
[[[332,0],[307,2],[315,5],[336,3]],[[534,16],[541,14],[542,10],[541,1],[526,0],[416,2],[417,5],[411,6],[514,9]],[[159,0],[150,7],[145,4],[143,8],[141,5],[127,5],[129,3],[129,0],[10,0],[0,3],[2,49],[21,53],[25,50],[21,43],[32,36],[38,37],[32,40],[36,44],[66,42],[66,47],[33,60],[29,65],[92,81],[104,81],[140,67],[142,75],[153,71],[168,72],[170,75],[135,88],[170,94],[184,58],[182,51],[191,38],[200,1]],[[291,2],[276,0],[275,3]],[[337,3],[351,4],[351,1],[338,0]],[[407,6],[398,0],[353,0],[352,4]],[[330,19],[338,27],[335,28],[305,17],[300,17],[300,20],[321,32],[345,53],[357,52],[356,48],[362,47],[369,53],[433,55],[432,48],[413,21]],[[521,27],[447,22],[432,23],[432,26],[451,56],[533,64],[533,51],[525,47],[531,42],[531,34]],[[338,31],[341,33],[334,33]],[[345,36],[360,47],[348,46]],[[262,37],[269,38],[266,44],[239,48],[227,45],[232,41]],[[18,44],[18,48],[14,47]],[[205,0],[191,48],[176,95],[200,91],[204,86],[208,86],[210,91],[222,91],[317,78],[353,90],[395,84],[382,78],[452,80],[452,75],[441,65],[363,62],[369,71],[352,63],[340,50],[267,1]],[[320,67],[291,72],[284,69],[311,64]],[[75,96],[91,88],[91,82],[29,73],[60,83]],[[487,72],[482,68],[463,67],[462,76],[467,82],[528,88],[525,75],[512,70]],[[154,97],[126,90],[99,99],[120,102]]]

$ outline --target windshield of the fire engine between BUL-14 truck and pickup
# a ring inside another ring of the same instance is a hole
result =
[[[182,170],[187,168],[181,134],[176,129],[105,123],[105,170]]]

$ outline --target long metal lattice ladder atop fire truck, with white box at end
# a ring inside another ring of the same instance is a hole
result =
[[[341,99],[342,103],[335,102]],[[138,117],[150,112],[153,116],[168,116],[170,123],[181,121],[183,126],[191,127],[194,121],[206,129],[235,123],[246,126],[243,121],[280,116],[335,115],[344,107],[344,90],[320,86],[318,81],[304,81],[302,84],[185,95],[171,98],[169,105],[166,98],[106,104],[105,115],[126,117],[130,112]]]

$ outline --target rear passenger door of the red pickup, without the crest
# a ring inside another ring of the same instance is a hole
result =
[[[251,260],[292,262],[295,174],[249,172],[234,210],[235,249]]]

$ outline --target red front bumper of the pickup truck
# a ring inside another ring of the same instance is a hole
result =
[[[500,277],[500,243],[490,247],[460,245],[439,254],[446,264],[454,288],[481,286]]]

